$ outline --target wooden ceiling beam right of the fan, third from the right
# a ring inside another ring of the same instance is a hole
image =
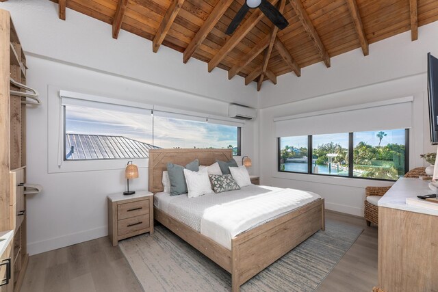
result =
[[[301,25],[304,27],[305,31],[313,41],[313,44],[318,50],[318,54],[320,55],[322,61],[324,62],[324,64],[326,64],[326,67],[329,68],[330,55],[329,53],[327,53],[324,44],[322,44],[321,38],[318,35],[318,32],[316,31],[315,27],[313,26],[309,18],[309,15],[307,15],[306,10],[302,6],[301,0],[289,0],[289,3],[290,5],[292,5],[292,8],[294,8],[296,16],[298,16],[298,18],[300,19]]]

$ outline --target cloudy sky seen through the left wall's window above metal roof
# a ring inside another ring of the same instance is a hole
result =
[[[237,146],[237,127],[86,107],[66,108],[66,133],[120,135],[162,148]]]

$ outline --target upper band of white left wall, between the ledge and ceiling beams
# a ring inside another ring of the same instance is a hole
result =
[[[255,85],[244,79],[228,80],[219,68],[207,74],[207,64],[194,58],[183,64],[183,55],[168,47],[153,53],[152,42],[127,31],[112,38],[112,26],[73,10],[66,21],[57,17],[57,3],[14,0],[0,3],[9,10],[26,53],[109,72],[220,101],[257,105]]]

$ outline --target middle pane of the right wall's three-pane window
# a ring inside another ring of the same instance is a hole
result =
[[[312,173],[348,176],[348,133],[313,135]]]

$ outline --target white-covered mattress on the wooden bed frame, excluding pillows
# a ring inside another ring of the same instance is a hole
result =
[[[310,191],[249,185],[188,198],[159,192],[154,206],[231,250],[231,239],[321,197]]]

